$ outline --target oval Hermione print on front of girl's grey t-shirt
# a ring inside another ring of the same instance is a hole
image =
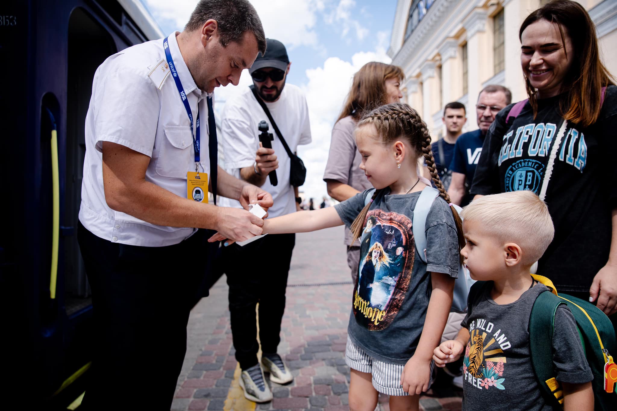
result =
[[[354,315],[369,330],[392,323],[409,288],[413,269],[412,221],[402,214],[371,210],[360,237]]]

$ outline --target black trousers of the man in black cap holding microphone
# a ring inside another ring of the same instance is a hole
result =
[[[231,336],[242,370],[257,364],[257,320],[262,352],[276,352],[281,342],[281,319],[295,234],[268,234],[241,247],[223,249],[222,258],[230,287]]]

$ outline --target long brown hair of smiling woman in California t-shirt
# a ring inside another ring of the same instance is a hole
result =
[[[602,87],[615,85],[615,78],[600,61],[594,22],[578,2],[553,0],[525,18],[518,38],[521,40],[523,31],[538,20],[557,23],[563,47],[566,45],[565,36],[568,35],[574,49],[574,55],[566,54],[566,59],[574,60],[561,84],[561,91],[568,91],[568,98],[560,103],[561,115],[565,120],[583,127],[594,124],[602,109]],[[525,83],[535,118],[537,90],[531,86],[528,78],[525,78]]]

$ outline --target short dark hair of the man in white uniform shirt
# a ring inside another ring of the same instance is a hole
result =
[[[266,36],[255,7],[247,0],[201,0],[191,13],[186,31],[199,30],[208,20],[216,20],[223,47],[231,42],[242,43],[242,36],[251,31],[257,40],[257,49],[266,52]]]

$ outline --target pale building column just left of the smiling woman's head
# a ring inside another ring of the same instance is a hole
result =
[[[512,92],[512,102],[527,98],[523,69],[521,68],[521,42],[518,31],[521,23],[532,10],[540,7],[539,0],[503,0],[503,57],[505,58],[505,86]]]

